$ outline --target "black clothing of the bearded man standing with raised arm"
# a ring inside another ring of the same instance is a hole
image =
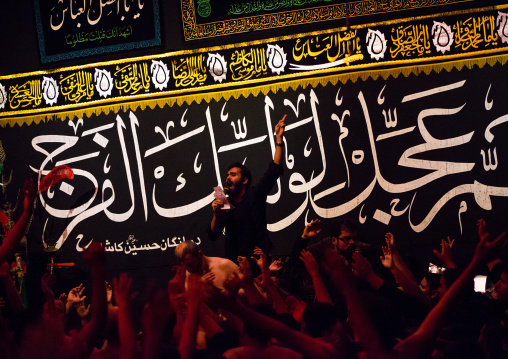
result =
[[[266,198],[283,172],[282,166],[270,162],[259,183],[245,192],[240,203],[229,199],[234,208],[222,213],[225,218],[221,221],[226,228],[226,258],[233,262],[236,262],[238,256],[250,258],[255,246],[265,253],[270,250],[271,241],[266,229]],[[216,240],[224,227],[213,233],[209,226],[208,237],[212,241]]]

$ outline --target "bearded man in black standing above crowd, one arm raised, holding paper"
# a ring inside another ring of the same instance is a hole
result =
[[[271,247],[266,229],[266,198],[277,179],[283,173],[284,119],[275,126],[275,153],[259,183],[251,186],[252,175],[243,164],[236,162],[228,167],[225,192],[234,208],[223,210],[224,203],[212,202],[213,217],[208,228],[208,237],[216,240],[226,229],[225,255],[236,261],[238,256],[250,258],[254,247],[265,253]]]

